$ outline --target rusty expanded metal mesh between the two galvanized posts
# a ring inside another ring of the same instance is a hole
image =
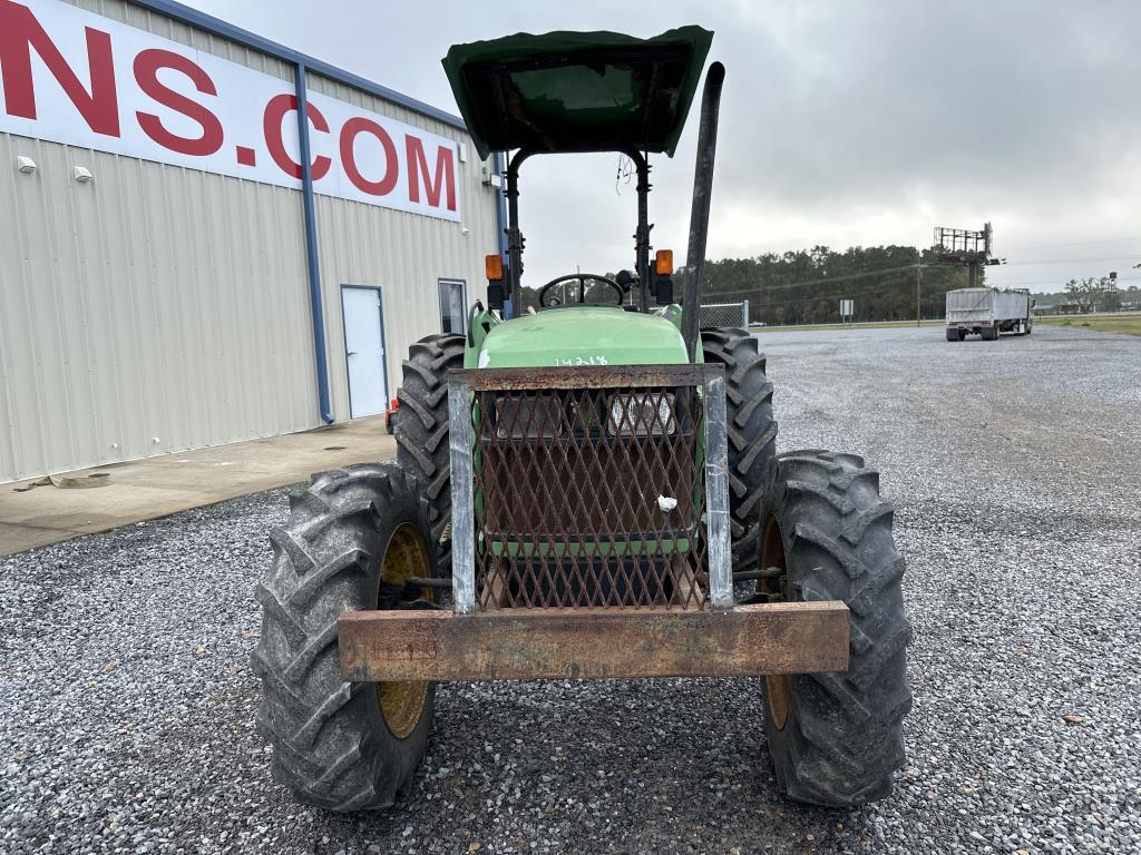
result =
[[[696,383],[476,391],[478,606],[705,608],[702,417]]]

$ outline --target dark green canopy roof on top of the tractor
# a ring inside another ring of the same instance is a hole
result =
[[[713,33],[683,26],[636,39],[518,33],[455,44],[444,70],[479,149],[672,156]]]

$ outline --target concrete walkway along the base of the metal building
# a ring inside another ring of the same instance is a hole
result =
[[[54,479],[58,484],[105,482],[91,489],[52,483],[23,489],[41,479],[0,484],[0,555],[308,481],[314,472],[395,455],[396,441],[385,433],[377,416],[304,433],[96,466]]]

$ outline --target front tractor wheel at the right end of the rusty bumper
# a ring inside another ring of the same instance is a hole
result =
[[[830,451],[791,451],[769,467],[761,561],[783,571],[767,583],[771,598],[842,600],[851,620],[847,673],[766,679],[777,785],[798,801],[852,807],[884,798],[904,764],[911,626],[892,506],[879,481],[861,458]]]

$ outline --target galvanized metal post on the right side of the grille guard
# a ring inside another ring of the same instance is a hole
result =
[[[723,372],[705,381],[705,513],[710,539],[710,603],[714,609],[731,609],[729,439]]]

